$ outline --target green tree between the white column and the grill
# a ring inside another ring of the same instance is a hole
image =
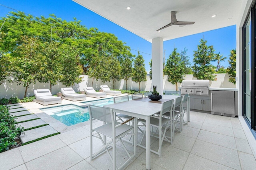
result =
[[[177,49],[174,48],[172,54],[167,59],[164,73],[168,75],[168,82],[176,85],[176,91],[178,91],[178,83],[181,83],[182,80],[184,80],[185,72],[185,62],[182,61],[180,53],[177,53]]]

